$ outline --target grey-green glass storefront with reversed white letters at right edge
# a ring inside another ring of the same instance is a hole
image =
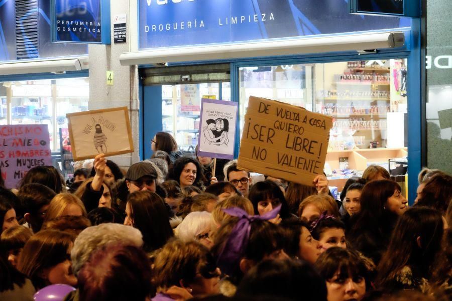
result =
[[[427,1],[427,167],[452,173],[450,2]]]

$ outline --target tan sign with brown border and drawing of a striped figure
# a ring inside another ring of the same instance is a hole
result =
[[[66,114],[74,161],[134,152],[127,107]]]

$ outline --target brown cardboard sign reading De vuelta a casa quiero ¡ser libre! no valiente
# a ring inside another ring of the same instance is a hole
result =
[[[250,96],[238,168],[304,185],[323,173],[332,118]]]

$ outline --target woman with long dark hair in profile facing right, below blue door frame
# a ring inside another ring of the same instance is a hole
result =
[[[375,264],[386,250],[397,218],[408,208],[399,184],[391,180],[367,183],[360,198],[361,210],[351,219],[347,233],[351,245]]]

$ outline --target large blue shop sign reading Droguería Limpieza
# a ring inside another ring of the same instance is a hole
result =
[[[350,15],[340,0],[138,0],[138,8],[140,49],[410,26],[404,18]]]

